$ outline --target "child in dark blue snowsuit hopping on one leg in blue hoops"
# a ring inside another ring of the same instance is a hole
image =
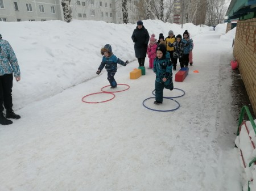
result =
[[[172,83],[172,63],[170,61],[170,53],[166,51],[166,46],[163,44],[159,44],[156,48],[154,73],[156,74],[154,104],[162,104],[164,88],[174,90],[174,83]]]

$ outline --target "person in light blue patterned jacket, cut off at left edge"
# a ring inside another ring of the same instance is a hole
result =
[[[8,41],[0,34],[0,124],[10,125],[13,121],[7,118],[18,119],[20,116],[13,111],[13,75],[17,82],[20,80],[20,70],[17,58]],[[3,106],[6,116],[3,115]]]

